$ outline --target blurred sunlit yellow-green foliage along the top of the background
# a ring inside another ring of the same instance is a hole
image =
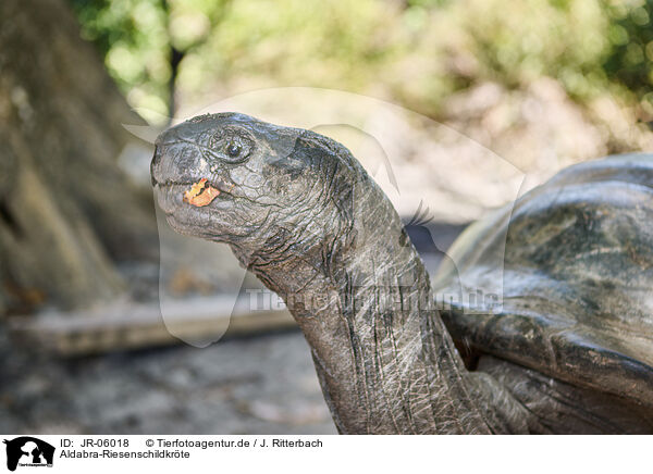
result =
[[[436,115],[477,82],[550,76],[653,116],[653,0],[71,1],[130,103],[160,114],[172,78],[185,98],[301,85]]]

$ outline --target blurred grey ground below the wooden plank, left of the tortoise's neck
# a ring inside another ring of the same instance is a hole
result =
[[[60,363],[13,348],[3,359],[4,434],[335,434],[298,330]]]

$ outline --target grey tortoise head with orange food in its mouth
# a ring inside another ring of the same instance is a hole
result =
[[[251,254],[332,234],[360,167],[354,163],[344,147],[312,132],[220,113],[162,133],[151,177],[175,230]]]

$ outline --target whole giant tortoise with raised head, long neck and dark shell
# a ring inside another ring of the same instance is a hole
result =
[[[284,299],[340,433],[653,433],[653,155],[560,172],[435,275],[313,132],[200,115],[158,137],[151,176],[175,230],[225,242]]]

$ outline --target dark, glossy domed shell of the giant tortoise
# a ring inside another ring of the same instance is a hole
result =
[[[571,166],[447,254],[432,285],[459,345],[653,407],[653,154]]]

